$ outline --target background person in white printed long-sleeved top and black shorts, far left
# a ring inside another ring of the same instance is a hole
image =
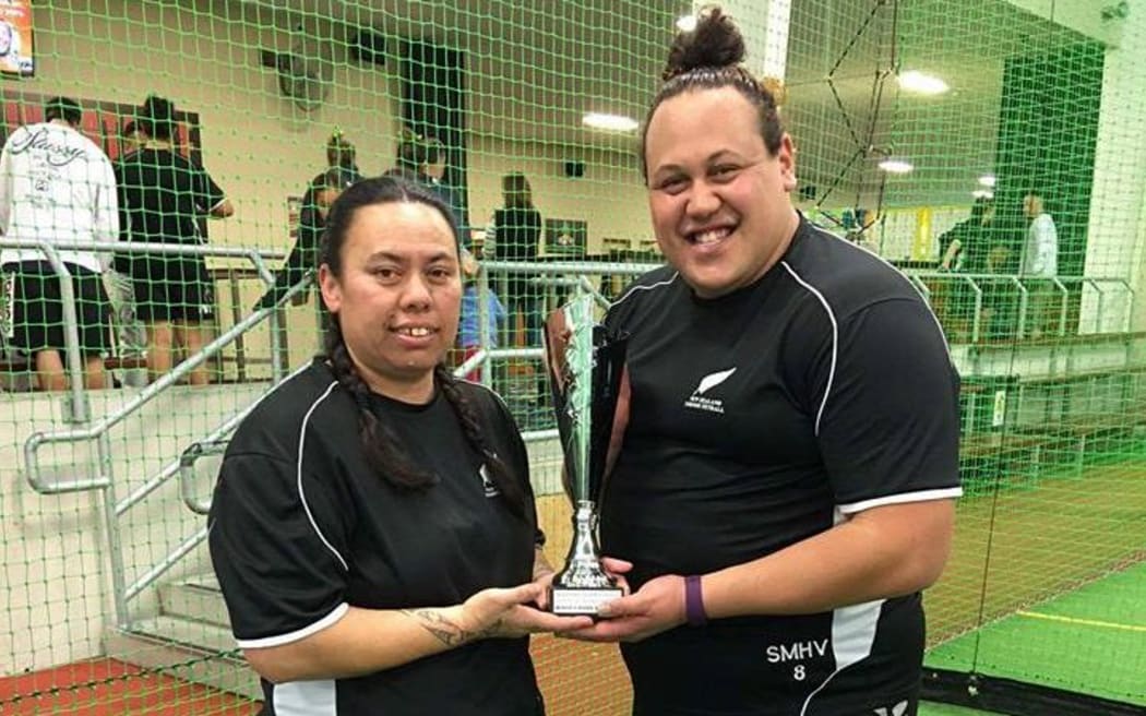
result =
[[[112,242],[119,238],[116,180],[108,156],[77,131],[79,103],[49,100],[45,121],[18,127],[0,152],[0,233],[9,238]],[[104,387],[103,356],[110,348],[111,308],[102,273],[110,257],[60,249],[72,275],[85,385]],[[39,249],[0,251],[6,325],[10,345],[31,354],[40,390],[68,387],[60,278]]]

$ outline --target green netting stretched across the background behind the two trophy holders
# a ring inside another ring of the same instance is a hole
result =
[[[37,375],[17,339],[14,297],[32,280],[58,291],[57,268],[16,270],[11,261],[48,257],[14,242],[77,229],[86,204],[79,195],[57,197],[36,214],[39,223],[0,237],[9,261],[0,341],[0,713],[256,710],[250,671],[211,581],[199,512],[236,416],[320,345],[316,297],[305,283],[314,262],[308,217],[329,200],[322,190],[343,186],[331,165],[352,168],[345,152],[328,159],[332,137],[336,148],[353,145],[366,175],[391,170],[403,151],[423,159],[440,151],[444,195],[469,249],[489,267],[472,283],[473,305],[494,306],[474,317],[450,360],[492,384],[527,431],[550,557],[564,558],[568,510],[560,455],[544,432],[554,422],[537,321],[582,276],[609,298],[639,266],[659,261],[635,133],[587,127],[582,118],[642,119],[688,2],[0,6],[8,23],[0,47],[8,29],[18,38],[0,58],[0,140],[37,126],[50,97],[74,97],[83,133],[124,184],[125,157],[136,149],[126,123],[139,123],[148,95],[171,100],[171,142],[159,149],[170,149],[164,166],[181,157],[170,180],[180,189],[166,197],[186,206],[174,212],[189,221],[183,236],[193,249],[185,253],[202,257],[162,254],[164,262],[155,250],[149,262],[127,250],[127,260],[111,261],[100,253],[107,261],[97,268],[110,261],[115,269],[94,283],[77,280],[73,292],[86,297],[77,304],[81,318],[96,314],[87,323],[102,331],[100,351],[87,357],[103,367],[104,387],[69,385],[64,351],[52,385],[66,390],[44,392],[36,388],[48,377]],[[926,595],[928,666],[1146,706],[1146,330],[1138,300],[1146,68],[1137,58],[1146,7],[727,7],[748,37],[753,68],[784,80],[784,117],[798,147],[793,202],[911,277],[963,376],[966,496],[950,565]],[[905,85],[909,71],[948,89],[920,94]],[[16,178],[25,191],[37,178],[58,175],[58,167],[36,171]],[[209,218],[227,212],[204,175],[234,204],[233,217]],[[520,200],[520,178],[529,202]],[[1033,233],[1023,212],[1030,192],[1055,230],[1042,261],[1046,220]],[[990,210],[975,210],[976,199]],[[174,211],[133,200],[136,231],[148,212]],[[504,211],[517,204],[537,213]],[[296,244],[303,251],[291,263]],[[15,259],[17,250],[30,253]],[[520,260],[591,266],[523,273],[504,263]],[[268,285],[267,269],[278,273],[277,284]],[[197,286],[189,298],[171,294],[188,285]],[[149,301],[187,313],[168,326],[141,306]],[[277,309],[256,313],[276,301]],[[66,332],[63,316],[47,316],[31,320],[37,332]],[[250,330],[238,330],[246,323]],[[195,370],[181,363],[201,360],[196,348],[220,337]],[[77,338],[87,340],[83,331]],[[518,351],[474,356],[493,347]],[[81,367],[84,356],[76,359]],[[132,410],[157,381],[173,385]],[[188,385],[198,383],[209,385]],[[628,713],[628,679],[613,647],[541,637],[534,653],[550,714]],[[159,710],[171,705],[182,710]]]

